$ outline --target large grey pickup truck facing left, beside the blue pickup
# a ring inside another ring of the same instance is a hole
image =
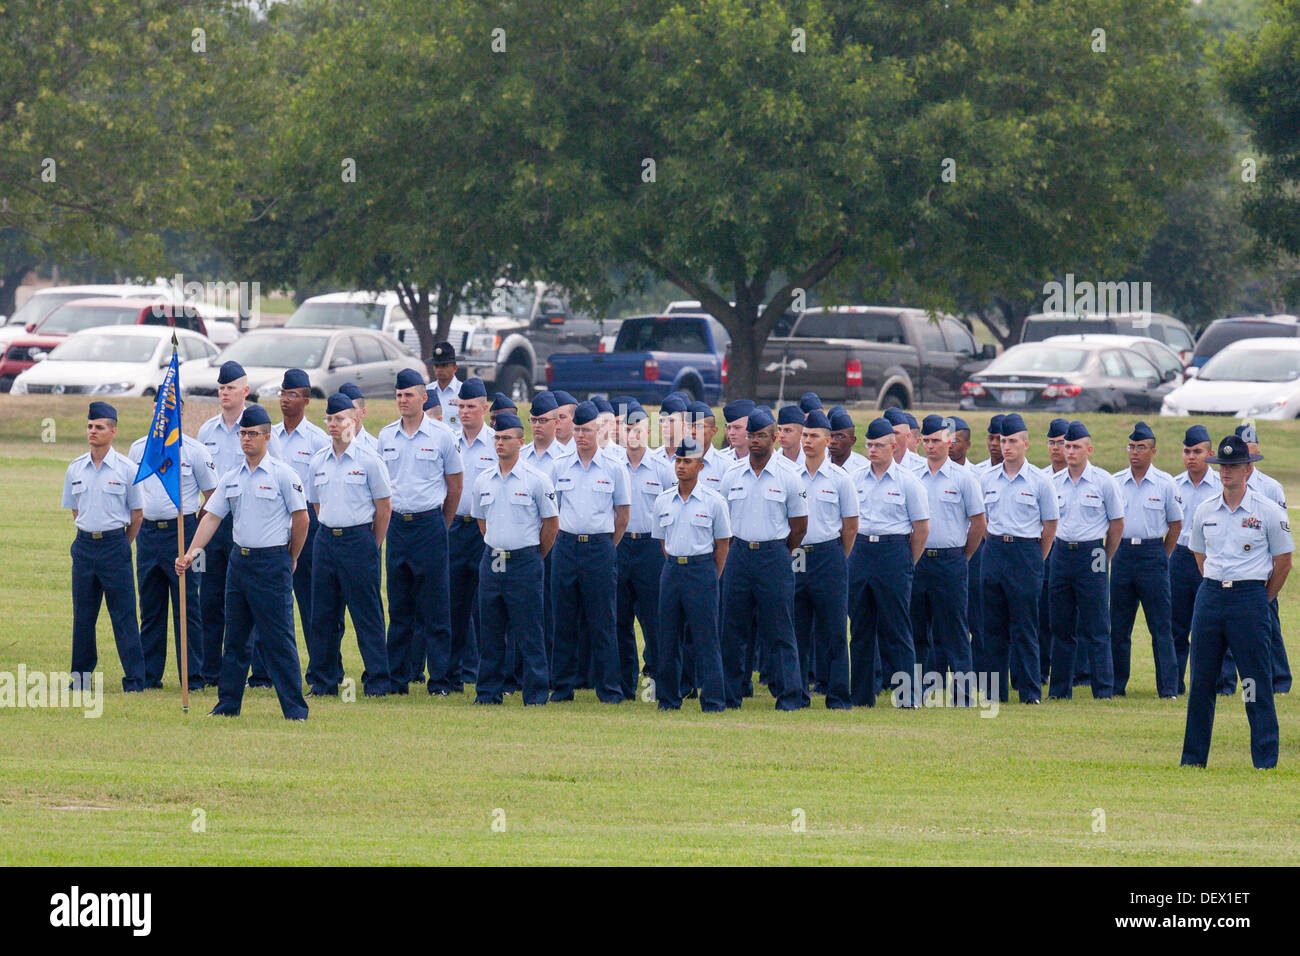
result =
[[[564,291],[545,282],[498,281],[465,306],[452,330],[462,376],[525,402],[546,386],[551,356],[597,351],[619,321],[573,312]]]

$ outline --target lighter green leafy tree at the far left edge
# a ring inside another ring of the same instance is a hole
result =
[[[256,18],[222,0],[0,0],[0,312],[47,260],[166,265],[234,206]]]

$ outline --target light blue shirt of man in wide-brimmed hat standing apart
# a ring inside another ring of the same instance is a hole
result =
[[[1273,555],[1290,554],[1296,546],[1286,511],[1247,488],[1235,509],[1228,509],[1222,494],[1201,502],[1188,548],[1205,555],[1210,580],[1266,581]]]

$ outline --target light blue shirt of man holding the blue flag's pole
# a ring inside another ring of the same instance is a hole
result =
[[[307,510],[298,472],[269,454],[256,468],[243,459],[228,471],[208,498],[207,511],[234,515],[234,538],[240,548],[282,548],[289,544],[292,514]]]

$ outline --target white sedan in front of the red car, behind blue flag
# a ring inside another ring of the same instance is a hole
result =
[[[16,395],[155,395],[172,362],[172,332],[162,325],[104,325],[69,337],[13,380]],[[217,347],[176,329],[181,362],[208,359]]]

